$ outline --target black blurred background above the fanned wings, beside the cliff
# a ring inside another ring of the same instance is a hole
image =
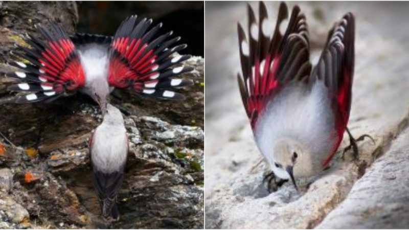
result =
[[[140,18],[152,18],[153,25],[163,22],[163,33],[173,30],[176,36],[181,36],[180,42],[189,44],[181,54],[203,57],[203,2],[83,1],[77,5],[79,33],[113,35],[126,17],[137,14]]]

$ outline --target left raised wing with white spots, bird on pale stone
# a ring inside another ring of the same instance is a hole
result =
[[[241,98],[254,129],[267,102],[288,82],[307,79],[309,41],[305,16],[294,6],[287,29],[282,35],[279,27],[288,17],[285,3],[280,4],[276,28],[272,37],[266,30],[267,10],[263,2],[259,6],[259,23],[248,5],[248,40],[238,24],[240,60],[243,77],[238,75]]]

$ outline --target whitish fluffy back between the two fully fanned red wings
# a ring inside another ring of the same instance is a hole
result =
[[[96,78],[107,79],[109,55],[105,45],[83,45],[78,48],[78,53],[85,72],[85,85]]]

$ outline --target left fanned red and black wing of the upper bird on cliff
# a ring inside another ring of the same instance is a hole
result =
[[[9,61],[8,64],[22,71],[7,73],[7,77],[17,78],[21,83],[11,85],[11,91],[32,93],[16,98],[17,103],[46,101],[60,97],[66,91],[84,86],[85,76],[75,45],[56,24],[50,30],[36,25],[43,40],[26,34],[22,36],[30,48],[17,45],[12,54],[27,62]]]

